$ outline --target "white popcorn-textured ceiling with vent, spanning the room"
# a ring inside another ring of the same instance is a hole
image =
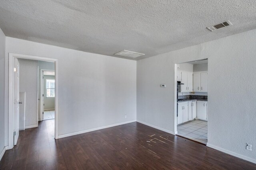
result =
[[[137,60],[255,29],[255,9],[255,0],[1,0],[0,28],[91,53],[146,54]],[[206,29],[226,20],[233,26]]]

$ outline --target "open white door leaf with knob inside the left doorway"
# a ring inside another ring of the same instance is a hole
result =
[[[20,64],[17,58],[14,58],[14,117],[13,117],[13,131],[14,131],[14,145],[17,144],[19,137],[19,122],[20,122]]]

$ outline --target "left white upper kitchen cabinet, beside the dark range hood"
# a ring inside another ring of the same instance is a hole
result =
[[[181,71],[181,85],[180,92],[192,92],[193,91],[193,73],[187,71]]]

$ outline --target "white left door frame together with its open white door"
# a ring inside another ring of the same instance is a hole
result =
[[[18,140],[19,132],[19,75],[18,75],[18,59],[30,59],[37,61],[53,62],[55,65],[55,79],[54,79],[54,138],[58,139],[58,59],[37,57],[32,55],[22,55],[9,53],[9,100],[8,100],[8,149],[14,147],[15,141]],[[38,116],[38,114],[37,114]]]

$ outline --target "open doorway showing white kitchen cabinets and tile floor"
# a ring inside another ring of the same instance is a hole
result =
[[[180,63],[177,79],[177,132],[207,144],[208,59]]]

